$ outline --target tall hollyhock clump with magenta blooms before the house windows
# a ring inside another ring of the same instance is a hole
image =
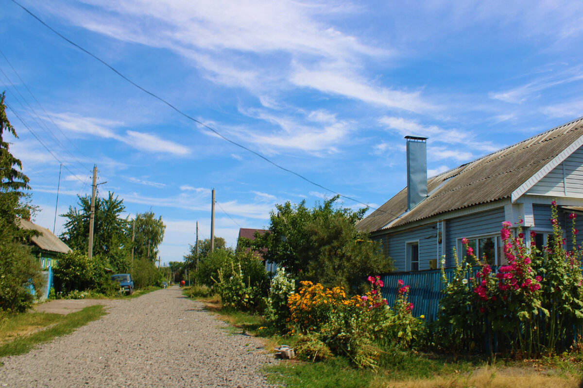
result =
[[[526,247],[521,222],[517,237],[511,237],[512,224],[503,222],[500,233],[507,265],[494,273],[484,263],[475,277],[466,279],[468,274],[459,264],[453,282],[447,283],[444,276],[445,296],[438,321],[444,344],[469,344],[471,349],[482,344],[486,334],[489,343],[484,348],[490,352],[494,336],[498,338],[498,350],[521,357],[566,350],[583,330],[581,250],[576,242],[576,215],[570,218],[573,250],[569,252],[563,248],[565,241],[553,201],[554,238],[550,246],[539,251],[532,242]],[[531,232],[531,237],[536,234]],[[467,242],[463,241],[471,255]]]

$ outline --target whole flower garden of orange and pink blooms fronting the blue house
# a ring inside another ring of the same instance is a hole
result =
[[[497,268],[477,258],[463,239],[469,262],[456,260],[455,268],[448,269],[451,274],[441,269],[438,313],[428,319],[413,314],[412,288],[395,277],[389,285],[384,284],[388,277],[368,276],[364,291],[351,293],[345,287],[294,279],[279,268],[262,294],[252,277],[231,262],[229,276],[220,273],[214,288],[223,308],[260,314],[257,333],[289,343],[305,361],[335,362],[340,357],[356,370],[378,373],[390,362],[401,362],[395,360],[403,354],[417,352],[490,361],[578,354],[583,336],[582,253],[576,215],[568,217],[573,248],[567,251],[557,212],[553,201],[554,237],[542,250],[534,242],[525,244],[522,221],[504,222],[500,236],[505,262]],[[536,234],[528,233],[535,241]],[[390,303],[381,292],[388,286],[395,290]]]

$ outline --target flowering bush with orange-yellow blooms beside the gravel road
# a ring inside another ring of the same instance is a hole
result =
[[[343,287],[325,289],[322,284],[300,282],[288,300],[287,319],[291,334],[317,336],[335,354],[346,355],[359,368],[377,367],[380,346],[407,346],[419,336],[423,325],[413,318],[407,300],[408,286],[393,309],[382,298],[380,277],[368,277],[371,291],[347,297]],[[301,348],[300,348],[301,353]]]

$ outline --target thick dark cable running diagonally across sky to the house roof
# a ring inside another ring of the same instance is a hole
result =
[[[157,99],[158,101],[162,102],[163,104],[166,104],[168,107],[170,107],[171,109],[173,109],[174,111],[176,111],[177,113],[180,113],[180,115],[184,116],[185,118],[191,120],[192,122],[195,122],[203,127],[205,127],[206,129],[212,131],[213,133],[215,133],[217,136],[219,136],[220,138],[222,138],[225,141],[228,141],[229,143],[235,145],[236,147],[240,147],[242,149],[244,149],[245,151],[251,152],[251,154],[254,154],[256,156],[258,156],[259,158],[263,159],[264,161],[270,163],[271,165],[275,166],[276,168],[283,170],[287,173],[290,173],[292,175],[297,176],[298,178],[307,181],[308,183],[312,184],[313,186],[322,188],[323,190],[329,191],[330,193],[333,193],[335,195],[338,195],[339,197],[342,198],[346,198],[347,200],[356,202],[358,204],[364,205],[367,208],[373,209],[375,211],[380,211],[392,216],[395,216],[396,218],[402,218],[401,215],[396,215],[395,213],[391,213],[391,212],[387,212],[378,208],[374,208],[371,207],[370,205],[356,200],[355,198],[352,197],[348,197],[347,195],[343,195],[340,193],[337,193],[334,190],[331,190],[330,188],[327,188],[325,186],[322,186],[319,183],[316,183],[315,181],[312,181],[310,179],[308,179],[307,177],[301,175],[300,173],[297,173],[293,170],[290,170],[288,168],[285,168],[281,165],[279,165],[276,162],[273,162],[271,159],[266,158],[264,155],[259,154],[257,151],[253,151],[252,149],[245,147],[243,144],[237,143],[234,140],[231,140],[230,138],[224,136],[222,133],[220,133],[219,131],[217,131],[216,129],[208,126],[207,124],[201,122],[200,120],[197,120],[195,118],[193,118],[192,116],[188,115],[185,112],[182,112],[180,109],[178,109],[176,106],[174,106],[173,104],[171,104],[170,102],[166,101],[166,99],[159,97],[158,95],[154,94],[153,92],[147,90],[146,88],[143,88],[142,86],[139,86],[138,84],[136,84],[134,81],[130,80],[128,77],[124,76],[124,74],[122,74],[121,72],[119,72],[117,69],[115,69],[115,67],[111,66],[110,64],[108,64],[107,62],[105,62],[103,59],[99,58],[99,56],[93,54],[92,52],[88,51],[87,49],[81,47],[80,45],[76,44],[75,42],[69,40],[69,38],[66,38],[64,35],[62,35],[61,33],[59,33],[57,30],[53,29],[51,26],[49,26],[47,23],[43,22],[43,20],[41,20],[38,16],[34,15],[34,13],[32,13],[29,9],[27,9],[26,7],[24,7],[23,5],[21,5],[19,2],[17,2],[16,0],[11,0],[13,3],[15,3],[17,6],[19,6],[20,8],[22,8],[26,13],[28,13],[30,16],[34,17],[34,19],[36,19],[39,23],[43,24],[43,26],[47,27],[47,29],[51,30],[53,33],[55,33],[56,35],[58,35],[58,37],[62,38],[63,40],[65,40],[66,42],[68,42],[69,44],[73,45],[74,47],[78,48],[79,50],[85,52],[85,54],[92,56],[92,58],[96,59],[97,61],[101,62],[104,66],[108,67],[111,71],[113,71],[115,74],[117,74],[118,76],[120,76],[122,79],[124,79],[125,81],[127,81],[128,83],[132,84],[133,86],[135,86],[136,88],[138,88],[139,90],[145,92],[146,94],[149,94],[150,96],[152,96],[153,98]]]

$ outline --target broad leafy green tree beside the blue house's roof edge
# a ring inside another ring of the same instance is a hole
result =
[[[286,268],[301,280],[325,286],[344,286],[353,291],[366,283],[367,275],[392,270],[380,245],[368,233],[356,229],[367,209],[352,211],[335,207],[338,196],[317,204],[286,202],[271,212],[268,232],[255,234],[240,245],[262,251],[264,259]]]

